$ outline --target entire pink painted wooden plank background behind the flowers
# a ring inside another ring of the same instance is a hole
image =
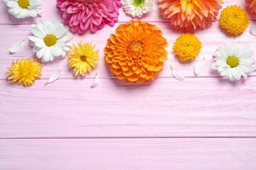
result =
[[[245,8],[244,0],[224,0],[223,7],[234,4]],[[44,21],[64,22],[56,1],[43,0],[42,9]],[[171,49],[182,32],[161,18],[154,1],[140,20],[163,31],[168,59],[156,80],[127,84],[104,61],[108,37],[132,19],[123,8],[119,13],[114,27],[75,34],[70,41],[83,39],[100,49],[91,73],[76,78],[67,58],[59,57],[43,63],[41,78],[24,88],[6,80],[6,67],[23,56],[37,60],[28,36],[40,17],[17,20],[0,2],[0,169],[256,169],[256,72],[230,82],[210,67],[213,51],[226,39],[250,44],[256,52],[256,37],[249,33],[255,17],[249,15],[249,26],[237,36],[219,22],[192,31],[202,50],[194,61],[181,63]],[[22,39],[22,50],[9,54]],[[203,70],[195,76],[194,65],[203,57]],[[169,65],[186,80],[173,78]],[[45,86],[56,69],[61,77]],[[91,88],[96,72],[100,83]]]

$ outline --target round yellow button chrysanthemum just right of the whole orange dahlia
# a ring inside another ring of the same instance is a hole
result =
[[[179,55],[181,61],[186,61],[186,59],[193,60],[194,57],[196,58],[198,56],[197,54],[201,48],[201,42],[192,33],[184,33],[179,36],[173,46],[173,50],[175,50],[174,54]]]

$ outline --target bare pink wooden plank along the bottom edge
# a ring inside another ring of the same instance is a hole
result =
[[[256,139],[1,140],[0,169],[256,169]]]

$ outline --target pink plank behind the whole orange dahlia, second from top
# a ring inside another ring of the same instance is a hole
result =
[[[163,71],[158,75],[158,77],[171,77],[171,69],[169,65],[172,65],[174,68],[179,69],[185,76],[195,76],[194,74],[194,65],[200,61],[203,57],[205,57],[205,65],[203,66],[202,73],[198,76],[220,76],[217,71],[213,71],[211,69],[211,63],[213,63],[213,52],[217,49],[217,46],[226,43],[226,39],[230,39],[233,42],[240,41],[241,44],[249,44],[253,48],[256,46],[256,37],[249,33],[249,28],[251,25],[256,26],[256,23],[251,22],[251,24],[247,27],[247,29],[238,36],[227,36],[224,33],[223,29],[220,29],[219,23],[213,24],[209,29],[196,31],[195,35],[202,42],[202,50],[198,54],[198,58],[195,58],[194,61],[186,61],[181,62],[179,57],[174,55],[172,50],[173,42],[179,35],[181,34],[178,31],[173,31],[170,29],[168,25],[165,23],[151,22],[152,24],[158,25],[163,31],[163,37],[167,39],[169,46],[166,48],[168,52],[168,59],[164,62]],[[117,25],[114,27],[106,27],[105,29],[97,31],[96,35],[77,35],[72,41],[75,44],[80,42],[81,39],[87,42],[93,42],[96,44],[95,49],[99,49],[98,54],[100,55],[100,59],[98,60],[98,65],[96,69],[93,69],[92,73],[87,74],[85,78],[94,78],[95,72],[98,72],[98,75],[102,78],[113,78],[114,76],[110,72],[108,65],[106,65],[106,61],[104,61],[104,47],[106,46],[106,40],[110,37],[111,33],[114,33]],[[12,63],[12,59],[21,59],[23,56],[25,58],[34,58],[37,61],[35,54],[32,52],[32,47],[28,44],[28,36],[31,35],[30,25],[16,25],[15,31],[12,30],[13,25],[0,25],[0,37],[2,41],[0,42],[1,49],[0,50],[0,79],[5,79],[5,73],[7,71],[6,67],[10,67]],[[106,33],[107,32],[107,33]],[[214,34],[213,34],[214,33]],[[14,42],[21,41],[22,39],[26,39],[23,48],[17,52],[16,54],[9,54],[9,48],[14,44]],[[255,48],[253,51],[256,54]],[[43,75],[42,78],[48,78],[51,73],[53,73],[56,69],[62,70],[62,78],[75,78],[72,73],[73,69],[68,68],[67,57],[57,57],[53,62],[43,63]],[[256,72],[251,73],[251,75],[255,76]]]

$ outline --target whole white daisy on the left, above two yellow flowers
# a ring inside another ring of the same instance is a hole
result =
[[[62,56],[68,53],[67,41],[70,41],[74,35],[70,33],[68,26],[64,26],[57,20],[52,22],[38,20],[37,24],[32,24],[31,31],[33,36],[30,39],[30,45],[33,46],[33,52],[36,52],[37,58],[44,61],[53,61],[54,56]]]

